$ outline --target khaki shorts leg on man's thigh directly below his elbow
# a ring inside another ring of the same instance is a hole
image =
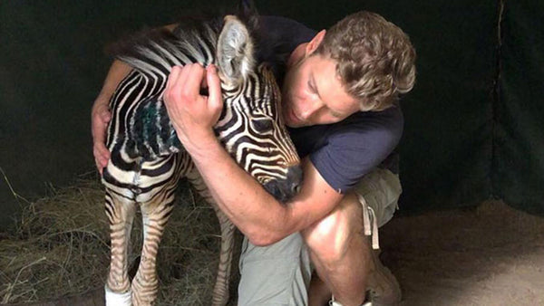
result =
[[[244,238],[238,305],[307,305],[310,259],[300,234],[256,246]]]

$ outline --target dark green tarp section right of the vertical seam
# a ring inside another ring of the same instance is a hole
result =
[[[544,214],[544,3],[505,5],[493,186],[511,206]]]

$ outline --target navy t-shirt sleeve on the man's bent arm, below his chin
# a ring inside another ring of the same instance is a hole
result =
[[[380,165],[403,134],[398,107],[360,117],[330,130],[325,145],[310,154],[319,174],[342,194]]]

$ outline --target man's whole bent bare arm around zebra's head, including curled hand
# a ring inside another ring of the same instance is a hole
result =
[[[300,193],[281,204],[230,158],[212,130],[222,109],[217,73],[214,67],[205,70],[199,64],[174,67],[164,98],[178,137],[219,208],[257,245],[277,242],[332,211],[343,195],[325,182],[309,160],[303,163]],[[204,78],[209,97],[199,94]]]

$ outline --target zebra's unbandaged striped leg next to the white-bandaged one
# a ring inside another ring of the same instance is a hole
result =
[[[173,193],[166,193],[172,195]],[[138,272],[132,280],[132,304],[151,305],[157,298],[159,278],[157,276],[157,252],[164,227],[173,208],[173,196],[158,202],[141,205],[143,218],[143,245]]]

